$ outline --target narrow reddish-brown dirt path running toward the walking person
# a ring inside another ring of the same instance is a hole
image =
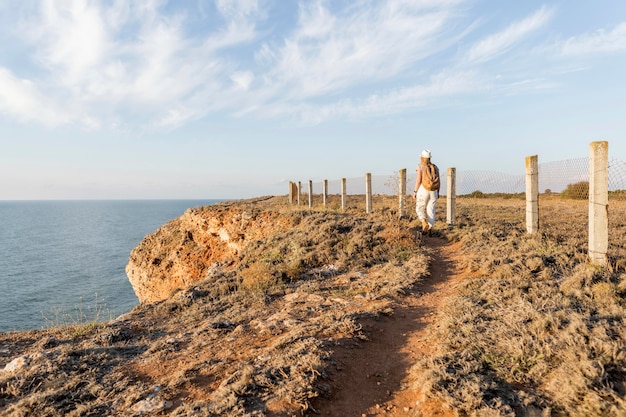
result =
[[[425,238],[425,244],[433,248],[431,276],[393,316],[363,323],[369,340],[334,349],[332,396],[313,402],[316,413],[308,415],[452,416],[407,387],[411,366],[428,354],[425,336],[437,309],[464,276],[457,267],[458,244],[437,237]]]

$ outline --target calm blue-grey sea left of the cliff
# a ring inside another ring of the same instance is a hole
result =
[[[218,201],[0,201],[0,332],[130,311],[130,251],[186,209]]]

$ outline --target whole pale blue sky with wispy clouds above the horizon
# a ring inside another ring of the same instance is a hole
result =
[[[0,3],[0,199],[626,159],[626,2]]]

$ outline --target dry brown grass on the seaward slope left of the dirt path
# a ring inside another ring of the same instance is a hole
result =
[[[415,231],[385,206],[339,213],[280,197],[198,212],[213,210],[261,219],[265,234],[228,262],[206,259],[204,281],[116,320],[0,334],[0,416],[303,413],[333,347],[362,338],[358,320],[389,313],[427,273]],[[181,247],[179,224],[154,239]]]

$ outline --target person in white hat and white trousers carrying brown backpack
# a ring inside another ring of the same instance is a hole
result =
[[[415,200],[415,212],[422,222],[422,234],[432,236],[435,225],[435,206],[439,199],[439,168],[430,161],[430,151],[424,149],[420,154],[420,163],[415,170],[415,187],[413,199]]]

